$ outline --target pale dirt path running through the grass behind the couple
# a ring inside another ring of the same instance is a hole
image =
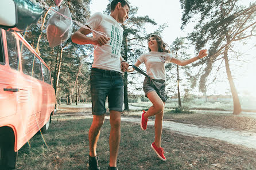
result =
[[[90,106],[84,106],[83,109],[86,109],[87,112],[84,112],[86,110],[82,111],[79,109],[82,112],[77,112],[78,110],[76,110],[76,113],[83,114],[83,116],[86,116],[88,118],[92,118]],[[105,118],[109,119],[110,116],[105,116]],[[139,124],[140,118],[123,116],[122,121],[134,122]],[[154,126],[154,120],[149,120],[148,125]],[[140,127],[138,126],[138,128]],[[176,133],[180,133],[181,135],[210,137],[226,141],[231,144],[243,145],[248,148],[256,149],[256,133],[253,132],[232,131],[231,129],[183,124],[173,121],[163,121],[163,128],[169,129],[170,131],[174,131]]]

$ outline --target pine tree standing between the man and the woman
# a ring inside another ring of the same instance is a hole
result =
[[[110,0],[111,2],[111,0]],[[146,32],[146,26],[148,25],[157,25],[157,23],[150,19],[148,15],[146,16],[136,16],[138,12],[138,7],[133,7],[130,5],[129,11],[129,19],[125,22],[123,27],[123,43],[121,48],[121,55],[124,60],[133,64],[137,58],[145,52],[147,49],[145,46],[145,41],[148,39],[149,35]],[[106,14],[110,14],[110,3],[107,6],[105,11]],[[152,34],[160,34],[166,25],[160,25],[156,31]],[[128,73],[125,72],[123,82],[124,82],[124,103],[125,103],[125,110],[129,110],[128,104],[128,83],[133,84],[134,82],[128,81]],[[134,75],[131,73],[131,75]]]

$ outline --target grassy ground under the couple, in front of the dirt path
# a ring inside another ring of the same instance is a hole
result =
[[[72,115],[73,114],[73,115]],[[185,117],[191,114],[170,114]],[[196,115],[196,114],[195,114]],[[177,118],[177,117],[176,117]],[[191,117],[190,117],[191,118]],[[88,169],[88,129],[92,118],[75,113],[58,113],[44,139],[35,135],[18,153],[16,169]],[[105,120],[98,141],[100,169],[107,169],[110,122]],[[256,169],[256,151],[203,137],[183,136],[163,130],[161,161],[150,144],[154,128],[141,131],[138,124],[122,122],[118,169]]]

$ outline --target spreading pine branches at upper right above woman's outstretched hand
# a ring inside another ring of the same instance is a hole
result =
[[[183,9],[181,28],[184,28],[188,22],[195,22],[196,26],[189,34],[189,39],[193,41],[197,52],[205,46],[208,47],[208,57],[193,64],[203,68],[199,89],[205,92],[210,73],[218,72],[225,64],[222,62],[225,50],[229,54],[228,57],[234,56],[233,62],[239,60],[235,57],[236,49],[232,49],[232,44],[256,34],[256,3],[245,7],[240,5],[242,1],[239,0],[180,0],[180,2]]]

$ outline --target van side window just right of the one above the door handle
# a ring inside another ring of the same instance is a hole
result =
[[[21,48],[21,64],[24,74],[32,76],[34,54],[20,41]]]

